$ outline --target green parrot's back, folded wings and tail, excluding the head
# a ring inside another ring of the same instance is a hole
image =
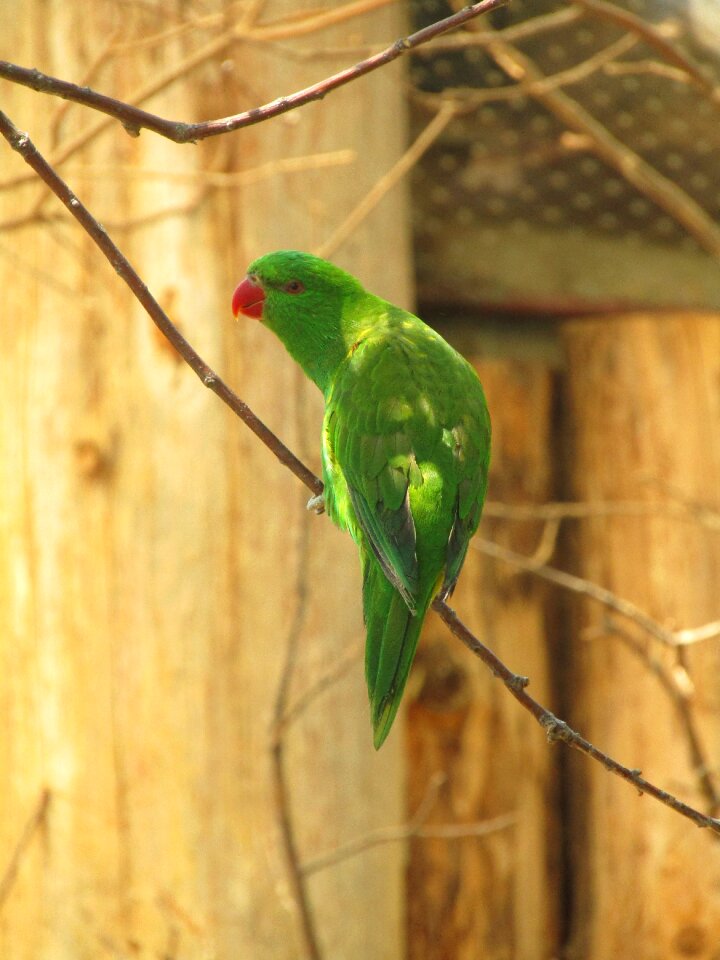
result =
[[[338,369],[323,431],[328,512],[369,555],[363,606],[376,745],[397,711],[425,612],[457,580],[489,456],[474,371],[417,318],[397,310],[389,320]]]

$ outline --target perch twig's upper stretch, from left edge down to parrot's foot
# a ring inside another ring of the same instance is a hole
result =
[[[105,257],[115,268],[116,273],[124,280],[133,295],[147,311],[153,323],[155,323],[160,332],[167,337],[204,385],[220,397],[223,403],[227,404],[233,413],[237,414],[243,423],[250,427],[253,433],[272,450],[281,463],[284,463],[289,470],[292,470],[299,480],[302,480],[314,493],[320,493],[322,491],[322,483],[320,480],[308,470],[305,464],[265,426],[250,407],[205,363],[194,347],[190,345],[177,327],[173,325],[168,315],[140,279],[130,261],[110,239],[107,231],[95,220],[87,207],[80,202],[65,181],[53,170],[27,134],[21,133],[2,111],[0,111],[0,133],[2,133],[13,150],[17,150],[23,160],[45,181],[53,193],[65,204],[86,233],[95,241]]]

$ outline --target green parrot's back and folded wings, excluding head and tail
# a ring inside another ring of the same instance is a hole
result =
[[[487,486],[490,424],[469,364],[417,318],[398,310],[391,319],[360,339],[338,370],[324,456],[346,501],[346,516],[336,519],[356,540],[362,533],[414,608],[430,586],[418,573],[418,524],[421,540],[427,531],[425,552],[441,551],[443,589],[457,580]],[[440,572],[433,570],[433,584]]]

